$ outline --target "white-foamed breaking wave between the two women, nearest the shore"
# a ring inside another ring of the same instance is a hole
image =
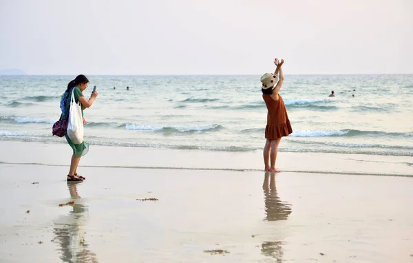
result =
[[[204,126],[173,126],[173,127],[163,127],[163,126],[151,126],[151,125],[134,125],[127,124],[125,129],[131,131],[162,131],[164,134],[179,134],[179,133],[192,133],[196,131],[218,131],[222,129],[222,125],[204,125]]]

